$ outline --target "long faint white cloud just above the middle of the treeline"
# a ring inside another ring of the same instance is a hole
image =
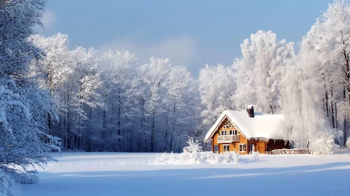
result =
[[[162,57],[170,59],[173,65],[189,65],[194,60],[197,50],[196,38],[188,35],[171,36],[159,43],[137,43],[132,36],[119,37],[108,41],[97,48],[102,54],[107,50],[129,50],[134,52],[139,62],[144,64],[150,57]]]

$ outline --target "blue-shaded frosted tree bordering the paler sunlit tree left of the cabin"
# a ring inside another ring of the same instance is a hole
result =
[[[198,84],[185,66],[170,69],[165,82],[167,96],[165,117],[165,151],[180,150],[188,135],[196,134],[200,125]],[[180,144],[179,144],[180,143]]]

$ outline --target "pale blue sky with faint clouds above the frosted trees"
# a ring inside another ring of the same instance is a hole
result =
[[[206,65],[231,65],[258,30],[298,43],[332,0],[117,1],[48,0],[45,29],[69,35],[69,47],[135,52],[140,64],[168,57],[193,76]]]

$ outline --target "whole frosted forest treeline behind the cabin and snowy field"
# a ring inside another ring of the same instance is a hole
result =
[[[225,109],[253,104],[284,114],[281,128],[295,147],[332,153],[349,137],[349,10],[347,1],[330,4],[297,46],[257,31],[231,66],[207,64],[198,79],[169,59],[97,56],[93,48],[69,50],[65,34],[35,35],[29,40],[46,56],[31,63],[31,76],[53,98],[48,131],[65,149],[180,152]]]

